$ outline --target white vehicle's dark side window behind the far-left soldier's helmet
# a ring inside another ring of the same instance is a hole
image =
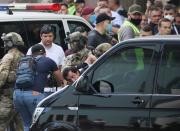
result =
[[[22,36],[22,39],[27,47],[27,36],[22,22],[1,22],[0,23],[0,36],[2,33],[16,32]],[[25,53],[25,52],[24,52]],[[0,39],[0,58],[4,56],[3,41]]]

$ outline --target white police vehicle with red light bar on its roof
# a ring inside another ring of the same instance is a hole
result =
[[[22,9],[24,10],[22,11]],[[68,46],[64,39],[67,33],[74,32],[78,26],[83,26],[88,32],[93,27],[82,17],[52,13],[59,9],[60,5],[55,3],[0,5],[0,35],[12,31],[19,33],[25,42],[24,53],[26,53],[30,46],[41,41],[41,27],[44,24],[50,24],[55,31],[54,42],[66,50]],[[42,12],[44,10],[46,12]],[[47,10],[51,12],[47,12]],[[2,40],[0,40],[0,46],[0,58],[2,58],[4,55]]]

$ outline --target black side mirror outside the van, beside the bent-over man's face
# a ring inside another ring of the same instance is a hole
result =
[[[81,93],[88,93],[88,77],[81,76],[75,85],[76,91]]]

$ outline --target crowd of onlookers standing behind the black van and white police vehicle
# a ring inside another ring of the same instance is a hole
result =
[[[180,33],[180,13],[175,5],[164,4],[162,0],[146,2],[145,11],[137,4],[126,11],[119,0],[98,0],[96,7],[86,5],[85,0],[65,0],[57,13],[86,19],[94,27],[87,35],[88,45],[93,47],[139,36]]]

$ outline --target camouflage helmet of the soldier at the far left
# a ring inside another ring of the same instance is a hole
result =
[[[1,39],[4,41],[4,46],[24,46],[22,37],[16,32],[10,32],[8,34],[3,33]]]

